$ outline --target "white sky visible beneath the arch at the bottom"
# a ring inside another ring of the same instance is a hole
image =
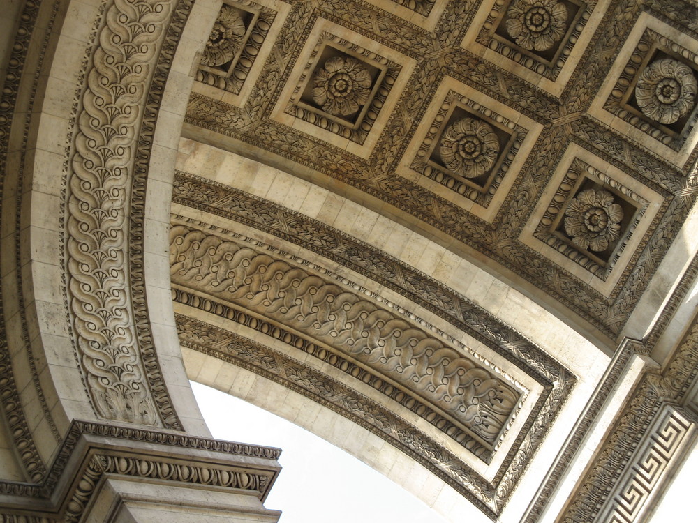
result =
[[[191,384],[211,434],[282,449],[265,507],[279,523],[446,523],[412,494],[324,439],[213,388]]]

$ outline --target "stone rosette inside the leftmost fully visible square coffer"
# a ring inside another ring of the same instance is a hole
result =
[[[322,110],[348,116],[369,101],[371,75],[361,62],[334,56],[313,77],[313,100]]]

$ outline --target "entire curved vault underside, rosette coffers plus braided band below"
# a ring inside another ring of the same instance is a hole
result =
[[[174,178],[181,343],[355,421],[496,519],[619,342],[667,321],[646,300],[678,277],[660,264],[697,194],[687,12],[226,0]]]

